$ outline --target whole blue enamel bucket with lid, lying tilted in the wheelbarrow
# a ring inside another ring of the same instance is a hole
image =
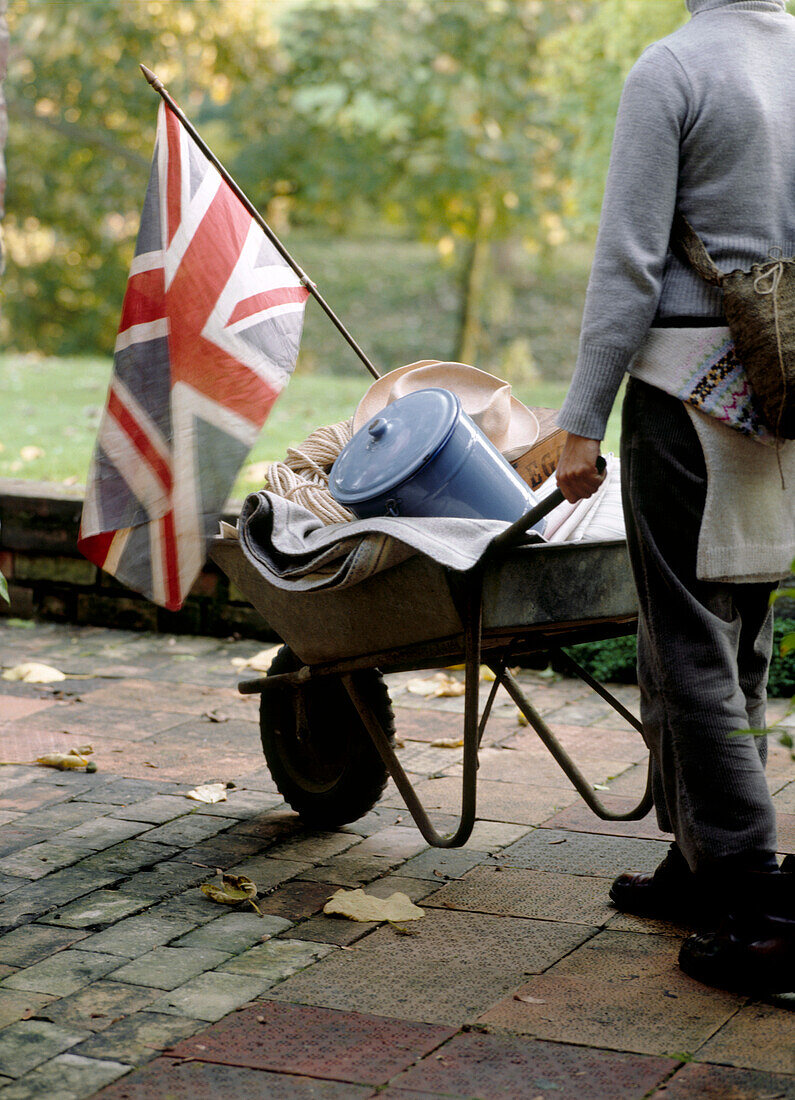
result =
[[[329,490],[356,517],[519,519],[538,499],[449,389],[418,389],[360,428]],[[544,520],[535,530],[543,531]]]

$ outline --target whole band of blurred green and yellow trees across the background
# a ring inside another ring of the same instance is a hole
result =
[[[593,228],[623,77],[683,18],[675,0],[15,0],[0,339],[112,346],[154,139],[143,61],[277,232],[432,241],[462,272],[474,359],[495,270],[505,302],[520,245]]]

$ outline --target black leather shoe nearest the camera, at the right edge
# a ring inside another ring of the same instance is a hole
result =
[[[747,872],[738,876],[733,893],[715,931],[682,944],[680,967],[718,989],[795,992],[795,876]]]

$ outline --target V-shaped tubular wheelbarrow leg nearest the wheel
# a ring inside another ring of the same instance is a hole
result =
[[[389,744],[380,722],[374,714],[367,701],[356,689],[354,678],[343,673],[342,682],[358,711],[373,744],[380,754],[389,774],[402,795],[402,799],[415,820],[417,828],[426,840],[434,848],[459,848],[468,840],[473,825],[477,801],[477,749],[478,749],[478,689],[481,676],[481,586],[474,583],[467,593],[468,614],[465,620],[465,660],[466,683],[464,695],[464,778],[459,827],[449,836],[442,836],[435,831],[417,793],[402,769],[395,750]]]

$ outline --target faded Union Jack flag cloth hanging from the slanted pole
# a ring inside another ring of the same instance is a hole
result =
[[[298,355],[307,288],[161,105],[78,546],[179,608]]]

